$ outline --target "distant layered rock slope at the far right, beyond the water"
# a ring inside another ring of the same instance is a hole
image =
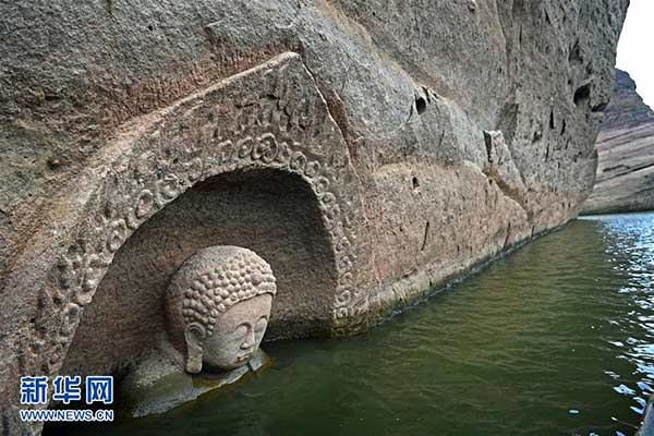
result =
[[[620,70],[597,136],[597,180],[582,213],[654,209],[654,111]]]

